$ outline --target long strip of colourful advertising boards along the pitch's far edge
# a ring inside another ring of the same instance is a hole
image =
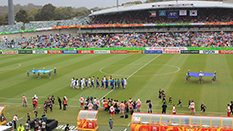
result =
[[[94,48],[95,49],[95,48]],[[101,48],[97,50],[40,50],[40,49],[20,49],[20,50],[0,50],[0,54],[233,54],[233,48],[189,48],[189,47],[144,47],[144,48]],[[121,50],[123,49],[123,50]],[[135,49],[135,50],[134,50]],[[212,50],[211,50],[212,49]]]

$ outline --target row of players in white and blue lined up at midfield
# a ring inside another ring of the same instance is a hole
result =
[[[96,83],[95,83],[96,82]],[[96,78],[93,76],[92,78],[72,78],[71,79],[71,84],[70,87],[73,87],[73,89],[79,89],[81,88],[84,89],[87,87],[90,88],[94,88],[96,87],[96,89],[125,89],[127,85],[127,78],[121,78],[121,79],[113,79],[112,76],[109,76],[109,78],[106,78],[106,76],[104,76],[104,78],[102,78],[101,80],[99,79],[99,77]]]

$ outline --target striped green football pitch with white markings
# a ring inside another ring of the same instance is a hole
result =
[[[41,75],[41,79],[31,74],[27,79],[27,70],[57,68],[57,76],[49,79]],[[158,99],[159,89],[164,89],[167,101],[172,95],[173,104],[182,98],[183,107],[177,106],[177,114],[190,114],[189,99],[196,104],[196,115],[226,116],[227,104],[230,103],[233,92],[233,56],[232,55],[185,55],[185,54],[30,54],[30,55],[0,55],[0,106],[7,106],[6,118],[12,120],[18,114],[21,122],[26,121],[26,114],[34,118],[31,98],[36,94],[39,108],[38,115],[43,115],[43,103],[50,95],[67,96],[66,111],[59,110],[57,99],[53,112],[48,110],[47,117],[56,119],[59,125],[70,123],[75,125],[79,108],[79,98],[97,97],[113,100],[139,99],[142,101],[142,112],[147,112],[146,100],[153,103],[153,113],[161,113],[162,102]],[[212,85],[212,77],[204,77],[204,83],[198,84],[198,78],[190,78],[184,83],[185,74],[191,72],[213,73],[217,71],[216,85]],[[126,89],[103,90],[87,88],[72,89],[72,77],[128,78]],[[22,107],[22,96],[26,95],[28,107]],[[207,106],[206,113],[200,112],[201,103]],[[172,105],[168,104],[167,113],[172,113]],[[131,116],[129,115],[131,118]],[[109,130],[110,114],[100,109],[98,114],[99,130]],[[130,118],[123,119],[115,115],[116,130],[130,128]],[[59,130],[59,129],[57,129]]]

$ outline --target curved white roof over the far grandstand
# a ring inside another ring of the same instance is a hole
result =
[[[168,9],[168,8],[233,8],[233,3],[213,2],[213,1],[165,1],[131,6],[120,6],[93,12],[89,16],[103,15],[109,13],[147,10],[147,9]]]

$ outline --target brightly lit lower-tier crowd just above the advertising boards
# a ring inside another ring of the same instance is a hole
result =
[[[90,35],[42,35],[5,40],[7,49],[102,48],[102,47],[232,47],[233,32],[132,33]]]

